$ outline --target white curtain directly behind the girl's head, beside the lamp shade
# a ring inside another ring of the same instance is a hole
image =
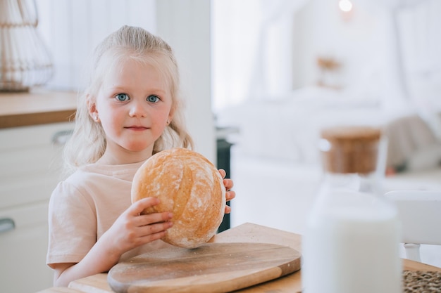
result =
[[[156,32],[155,0],[35,0],[37,29],[52,55],[51,89],[77,90],[84,85],[89,55],[122,25]]]

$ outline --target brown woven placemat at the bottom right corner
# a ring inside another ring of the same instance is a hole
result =
[[[404,293],[441,293],[441,272],[403,271]]]

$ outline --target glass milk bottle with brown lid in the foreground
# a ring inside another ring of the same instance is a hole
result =
[[[302,238],[305,293],[401,293],[397,209],[383,197],[380,129],[321,133],[323,182]]]

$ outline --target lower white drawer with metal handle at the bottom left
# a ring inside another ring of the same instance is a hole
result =
[[[15,223],[13,230],[0,233],[0,292],[51,287],[54,272],[46,266],[47,203],[0,211],[0,219]]]

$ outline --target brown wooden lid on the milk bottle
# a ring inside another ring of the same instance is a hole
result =
[[[323,166],[332,173],[375,171],[381,131],[370,126],[338,126],[323,129]]]

